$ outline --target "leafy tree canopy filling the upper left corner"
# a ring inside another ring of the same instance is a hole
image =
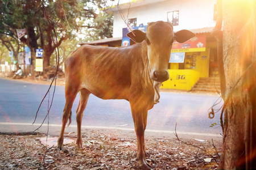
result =
[[[16,29],[26,28],[26,36],[19,41],[31,49],[43,48],[47,56],[55,51],[51,25],[54,25],[60,45],[64,40],[73,40],[77,33],[85,29],[88,40],[112,36],[113,18],[100,12],[104,7],[100,0],[1,0],[0,37],[17,39]],[[85,39],[84,39],[85,40]],[[76,42],[75,42],[76,43]]]

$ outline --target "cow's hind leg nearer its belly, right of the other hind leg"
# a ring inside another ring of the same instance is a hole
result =
[[[90,92],[86,89],[82,89],[79,92],[80,95],[80,101],[79,106],[76,110],[76,122],[77,122],[77,140],[76,145],[77,148],[82,148],[82,135],[81,135],[81,124],[82,124],[82,116],[84,109],[86,107]]]

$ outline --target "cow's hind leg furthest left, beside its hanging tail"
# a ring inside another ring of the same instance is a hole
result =
[[[66,103],[65,107],[63,109],[63,117],[62,117],[62,126],[61,126],[61,131],[60,131],[60,136],[57,142],[57,148],[60,150],[63,150],[63,140],[64,140],[64,131],[65,131],[65,126],[68,122],[69,119],[69,124],[71,123],[71,109],[73,102],[76,98],[77,91],[75,88],[68,87],[66,85],[65,87],[65,98],[66,98]]]

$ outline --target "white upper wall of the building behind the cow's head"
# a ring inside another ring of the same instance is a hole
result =
[[[128,18],[137,18],[137,26],[158,20],[167,22],[167,12],[179,10],[179,25],[174,26],[174,31],[214,27],[215,3],[216,0],[169,0],[130,8]],[[122,10],[122,13],[127,17],[128,10]],[[122,28],[126,27],[119,11],[114,11],[113,37],[122,37]]]

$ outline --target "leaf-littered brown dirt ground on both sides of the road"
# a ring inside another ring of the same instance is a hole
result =
[[[9,73],[0,73],[0,77],[13,79]],[[17,80],[51,83],[31,76]],[[65,79],[57,78],[56,85],[64,86]],[[76,137],[75,134],[65,135],[71,139]],[[56,146],[42,145],[39,139],[43,137],[46,134],[0,132],[0,169],[139,169],[135,159],[137,140],[131,135],[119,137],[106,130],[88,130],[82,133],[83,149],[78,150],[72,142],[64,146],[64,151],[56,150]],[[178,141],[164,137],[146,138],[145,143],[150,155],[147,162],[152,169],[172,170],[217,169],[222,145],[220,141]]]

